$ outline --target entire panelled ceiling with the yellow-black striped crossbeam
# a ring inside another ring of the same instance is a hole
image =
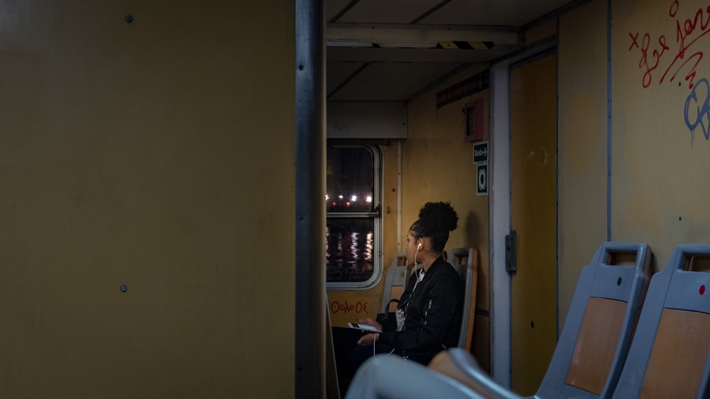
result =
[[[586,1],[325,0],[328,99],[408,101],[519,50],[522,26]]]

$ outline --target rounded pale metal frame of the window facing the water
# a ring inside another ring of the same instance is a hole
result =
[[[373,265],[372,275],[365,281],[326,281],[327,290],[366,290],[379,283],[383,272],[383,215],[382,215],[382,187],[383,187],[383,155],[379,145],[364,142],[337,142],[328,141],[328,148],[362,148],[370,152],[372,157],[373,193],[372,210],[369,212],[328,212],[326,210],[326,223],[329,218],[373,218]],[[327,164],[327,159],[326,159]],[[325,237],[324,237],[325,238]],[[327,265],[324,262],[324,266]]]

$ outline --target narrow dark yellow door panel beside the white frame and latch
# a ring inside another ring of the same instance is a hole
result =
[[[557,57],[510,72],[511,388],[532,395],[557,342]]]

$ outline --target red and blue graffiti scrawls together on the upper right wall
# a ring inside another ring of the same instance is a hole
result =
[[[710,41],[701,40],[710,32],[710,6],[683,9],[681,1],[674,0],[668,8],[668,16],[674,25],[674,35],[653,35],[650,32],[629,32],[628,51],[638,55],[638,68],[643,72],[641,85],[644,89],[656,84],[687,82],[690,94],[685,101],[684,120],[691,134],[691,146],[695,133],[703,133],[710,141],[710,84],[706,78],[697,77],[697,69],[703,60],[703,49]]]

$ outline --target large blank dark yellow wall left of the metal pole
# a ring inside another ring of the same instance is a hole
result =
[[[0,1],[2,398],[293,395],[294,17]]]

